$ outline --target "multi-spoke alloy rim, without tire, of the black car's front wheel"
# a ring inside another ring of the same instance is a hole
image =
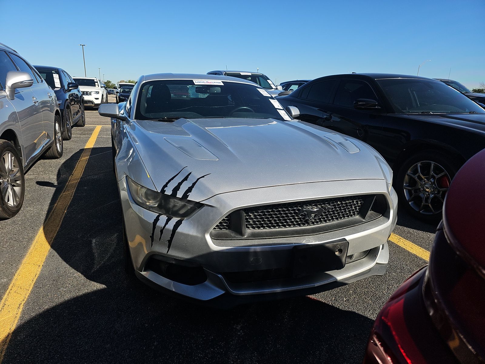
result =
[[[404,176],[404,196],[417,212],[435,215],[443,210],[450,182],[449,173],[441,165],[421,161],[412,165]]]

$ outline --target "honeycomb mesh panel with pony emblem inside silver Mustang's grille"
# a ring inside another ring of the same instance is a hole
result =
[[[339,221],[357,216],[364,202],[362,196],[337,199],[315,199],[256,206],[244,209],[245,224],[249,230],[297,228]],[[316,210],[321,215],[310,218],[305,210]]]

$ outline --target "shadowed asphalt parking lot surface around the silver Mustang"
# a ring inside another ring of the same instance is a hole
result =
[[[26,173],[20,213],[0,222],[0,292],[10,297],[0,314],[18,316],[13,332],[0,322],[1,363],[361,363],[380,308],[426,264],[435,226],[400,211],[386,274],[318,295],[229,311],[169,297],[123,270],[109,122],[87,110],[64,156]],[[29,250],[40,230],[45,260]]]

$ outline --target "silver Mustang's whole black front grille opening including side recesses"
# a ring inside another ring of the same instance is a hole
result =
[[[387,206],[384,195],[361,195],[248,207],[225,216],[211,236],[250,239],[334,231],[379,218]]]

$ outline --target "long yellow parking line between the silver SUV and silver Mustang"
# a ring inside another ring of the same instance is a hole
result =
[[[74,192],[84,172],[87,160],[91,154],[91,149],[96,142],[100,130],[101,127],[97,126],[91,134],[63,192],[52,207],[52,211],[44,222],[44,225],[35,236],[27,255],[20,264],[14,279],[0,302],[0,363],[3,360],[3,355],[5,354],[12,332],[16,327],[24,303],[32,291],[33,285],[49,253],[50,245],[61,226],[67,207],[74,196]]]

